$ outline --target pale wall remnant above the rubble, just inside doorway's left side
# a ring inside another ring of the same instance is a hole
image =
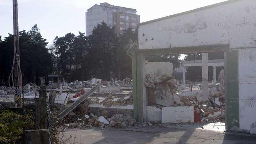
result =
[[[146,64],[146,74],[162,76],[163,74],[171,75],[173,73],[173,63],[168,62],[148,62]]]

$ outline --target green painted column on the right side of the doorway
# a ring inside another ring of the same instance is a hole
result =
[[[225,52],[225,113],[226,130],[239,127],[238,50]]]

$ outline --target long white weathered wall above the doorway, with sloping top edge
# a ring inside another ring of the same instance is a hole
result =
[[[217,44],[256,47],[255,13],[255,0],[240,0],[140,25],[139,49]]]

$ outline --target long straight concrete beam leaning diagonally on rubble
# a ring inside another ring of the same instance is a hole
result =
[[[63,110],[59,115],[58,118],[64,118],[70,111],[75,109],[79,104],[85,101],[90,95],[92,95],[97,90],[97,87],[92,88],[88,93],[85,93],[79,97],[74,103],[72,103],[69,107]]]

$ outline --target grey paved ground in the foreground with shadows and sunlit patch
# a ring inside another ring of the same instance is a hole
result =
[[[224,129],[222,123],[104,130],[93,127],[67,129],[65,136],[72,135],[67,144],[256,144],[255,135],[224,133]]]

